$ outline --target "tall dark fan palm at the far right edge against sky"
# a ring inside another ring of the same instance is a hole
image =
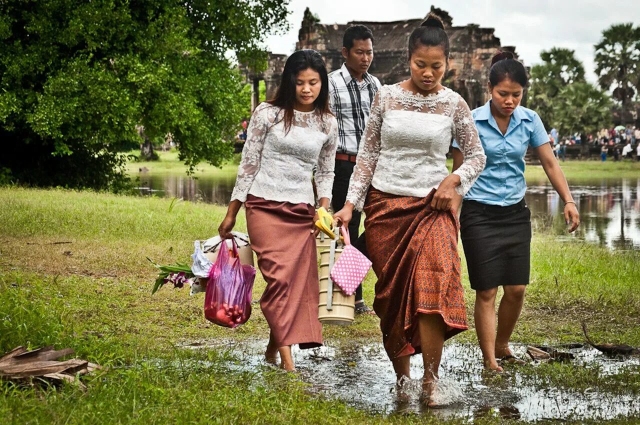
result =
[[[632,110],[632,99],[640,89],[640,27],[614,24],[602,31],[595,46],[598,83],[604,90],[615,85],[613,97],[622,104],[622,122]]]

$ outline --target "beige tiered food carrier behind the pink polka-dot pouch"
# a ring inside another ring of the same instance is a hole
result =
[[[333,259],[331,258],[332,251],[334,253]],[[340,253],[342,253],[342,249],[335,248],[335,241],[331,241],[328,250],[320,252],[318,320],[323,324],[351,325],[355,316],[355,294],[346,296],[337,285],[333,284],[329,276],[330,268],[338,260]]]

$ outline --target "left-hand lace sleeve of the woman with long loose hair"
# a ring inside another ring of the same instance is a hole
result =
[[[242,159],[238,166],[236,186],[234,186],[234,191],[231,194],[232,201],[246,201],[246,195],[251,189],[253,179],[255,179],[255,175],[260,170],[262,147],[268,131],[267,108],[269,108],[269,104],[266,104],[266,102],[255,108],[249,126],[246,129],[246,140],[242,149]]]

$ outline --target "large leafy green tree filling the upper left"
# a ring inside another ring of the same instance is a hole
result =
[[[171,133],[180,160],[230,157],[278,0],[7,0],[0,4],[0,169],[42,186],[118,189],[118,153]]]

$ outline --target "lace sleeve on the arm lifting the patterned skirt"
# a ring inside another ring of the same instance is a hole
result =
[[[460,186],[456,188],[456,192],[465,195],[484,170],[486,156],[474,124],[474,118],[471,116],[467,102],[462,97],[458,97],[458,104],[453,113],[453,125],[453,136],[460,145],[460,151],[464,158],[460,168],[453,172],[460,176]]]

